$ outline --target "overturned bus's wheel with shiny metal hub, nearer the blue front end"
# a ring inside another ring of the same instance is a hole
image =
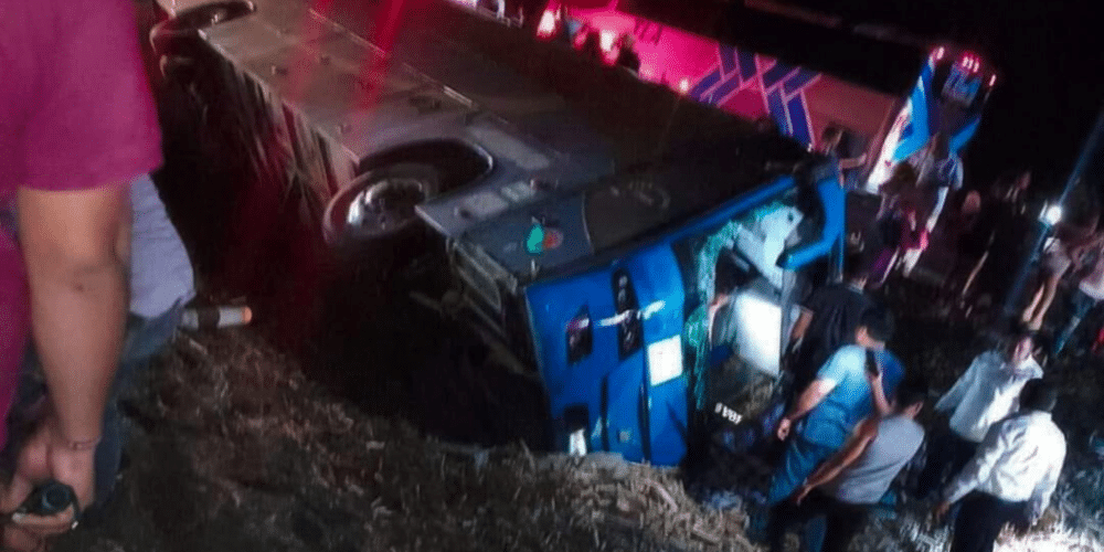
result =
[[[371,244],[421,231],[414,208],[440,191],[437,169],[396,163],[373,169],[339,191],[326,208],[331,245]]]

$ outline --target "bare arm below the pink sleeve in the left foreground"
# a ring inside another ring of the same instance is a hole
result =
[[[100,436],[104,404],[119,360],[128,307],[130,203],[125,184],[81,191],[21,189],[20,241],[31,290],[32,333],[54,405],[51,464],[82,503],[82,447]],[[70,469],[56,463],[75,463]],[[59,473],[61,471],[61,473]]]

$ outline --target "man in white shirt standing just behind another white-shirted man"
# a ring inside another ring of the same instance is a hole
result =
[[[1023,384],[1042,378],[1042,368],[1031,357],[1033,348],[1030,332],[1013,332],[1000,349],[978,354],[935,404],[936,412],[951,416],[951,427],[928,444],[927,465],[919,481],[922,497],[958,474],[989,427],[1017,411]]]

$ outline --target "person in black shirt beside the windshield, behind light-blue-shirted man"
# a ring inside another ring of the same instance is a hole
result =
[[[874,306],[866,285],[867,273],[854,255],[845,264],[843,282],[814,290],[802,304],[802,315],[789,333],[790,397],[813,382],[828,357],[852,342],[863,312]]]

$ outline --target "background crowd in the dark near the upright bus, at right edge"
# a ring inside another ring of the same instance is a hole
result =
[[[827,127],[817,151],[836,163],[841,183],[854,188],[845,174],[861,169],[866,158],[841,158],[836,152],[840,138],[840,129]],[[1044,338],[1040,344],[1048,355],[1063,351],[1104,300],[1100,202],[1066,198],[1068,211],[1075,215],[1068,212],[1040,229],[1048,204],[1029,199],[1032,178],[1031,170],[1013,169],[988,189],[966,190],[962,160],[947,138],[935,132],[878,187],[877,214],[860,232],[860,263],[869,287],[879,289],[895,275],[911,276],[921,257],[938,248],[942,255],[933,256],[942,256],[936,264],[945,266],[935,270],[942,273],[935,278],[942,282],[936,302],[945,312],[991,320],[1015,310],[1025,327]],[[1039,233],[1043,240],[1033,251]],[[1075,351],[1097,351],[1102,344],[1104,331]]]

